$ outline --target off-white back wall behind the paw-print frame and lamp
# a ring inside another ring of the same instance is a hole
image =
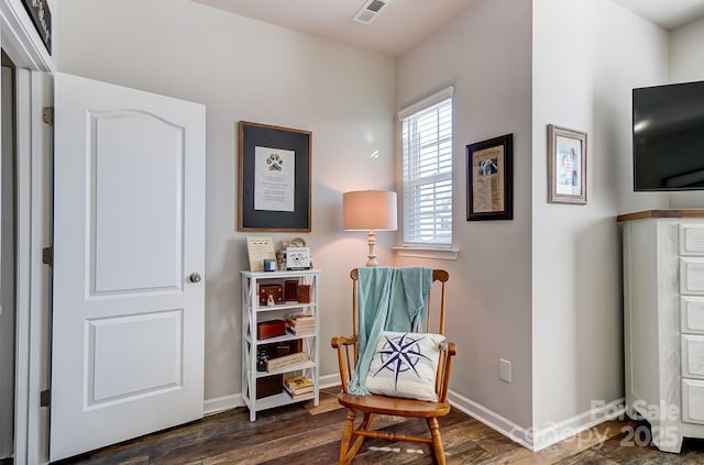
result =
[[[365,234],[341,231],[342,192],[394,187],[393,60],[188,0],[57,3],[57,70],[207,107],[207,399],[241,391],[237,122],[312,131],[312,232],[272,235],[302,236],[322,269],[321,374],[337,374],[327,341],[349,332],[340,296],[367,252]],[[382,263],[392,240],[378,235]]]

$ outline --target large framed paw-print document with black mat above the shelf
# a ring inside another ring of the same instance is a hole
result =
[[[310,232],[310,131],[239,122],[238,231]]]

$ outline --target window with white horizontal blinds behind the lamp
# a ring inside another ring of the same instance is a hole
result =
[[[404,246],[452,245],[451,87],[398,113],[404,151]]]

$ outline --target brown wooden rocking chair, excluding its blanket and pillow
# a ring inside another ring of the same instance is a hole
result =
[[[342,440],[340,442],[340,460],[339,464],[349,464],[356,455],[365,438],[376,438],[389,441],[408,441],[422,442],[429,444],[432,449],[439,465],[444,465],[444,451],[442,449],[442,438],[440,436],[440,428],[438,418],[444,417],[450,412],[450,403],[448,403],[448,388],[450,384],[450,366],[452,356],[455,355],[454,343],[448,343],[447,350],[441,351],[438,363],[438,372],[436,377],[437,402],[415,400],[399,397],[388,397],[381,395],[354,396],[348,392],[348,381],[352,378],[354,367],[359,357],[358,347],[358,270],[356,268],[350,273],[352,278],[352,321],[353,334],[350,337],[337,336],[332,337],[331,344],[338,350],[338,362],[340,364],[340,377],[342,379],[342,392],[338,395],[338,401],[349,409],[344,429],[342,431]],[[426,323],[426,332],[429,332],[431,317],[439,321],[437,333],[444,334],[444,310],[446,310],[446,283],[450,278],[448,272],[443,269],[432,270],[433,283],[440,283],[440,302],[438,306],[439,314],[432,314],[431,299],[428,298],[428,318]],[[355,428],[354,420],[356,412],[362,412],[362,421]],[[372,421],[374,416],[395,416],[409,418],[425,418],[430,430],[430,438],[414,436],[407,434],[395,434],[393,432],[373,431]]]

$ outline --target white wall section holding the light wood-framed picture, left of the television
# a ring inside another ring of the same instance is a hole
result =
[[[668,81],[668,33],[609,0],[534,0],[534,428],[624,395],[616,215],[667,208],[632,192],[631,89]],[[547,203],[547,125],[585,131],[587,204]]]

